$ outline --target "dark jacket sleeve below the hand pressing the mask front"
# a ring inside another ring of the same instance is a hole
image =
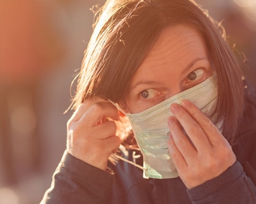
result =
[[[237,161],[219,177],[188,189],[192,203],[256,203],[256,187]]]

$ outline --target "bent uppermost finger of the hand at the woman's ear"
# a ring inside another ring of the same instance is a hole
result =
[[[85,127],[93,127],[102,123],[104,118],[111,117],[113,120],[120,120],[118,110],[111,103],[94,103],[81,117]]]

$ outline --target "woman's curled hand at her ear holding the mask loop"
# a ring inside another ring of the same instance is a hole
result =
[[[67,151],[77,159],[106,170],[121,140],[116,136],[118,110],[100,98],[86,99],[67,122]]]

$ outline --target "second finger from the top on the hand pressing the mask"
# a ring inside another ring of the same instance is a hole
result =
[[[176,119],[179,120],[181,126],[189,136],[189,139],[193,145],[195,145],[196,150],[207,151],[211,148],[211,143],[203,129],[200,127],[198,122],[196,122],[196,120],[191,117],[184,108],[182,108],[182,106],[174,103],[171,105],[171,111]]]

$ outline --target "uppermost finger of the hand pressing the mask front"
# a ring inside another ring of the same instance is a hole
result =
[[[193,103],[191,103],[188,100],[183,100],[182,107],[199,124],[211,145],[220,144],[220,142],[227,142],[225,138],[221,135],[218,128],[214,126],[212,121],[206,115],[204,115],[204,113],[202,113],[201,110],[199,110],[195,105],[193,105]]]

